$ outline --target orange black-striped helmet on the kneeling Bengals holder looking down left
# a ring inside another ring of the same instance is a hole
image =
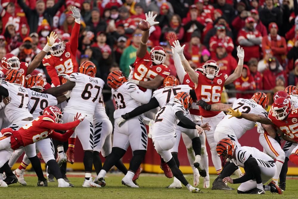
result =
[[[232,158],[235,149],[235,142],[230,138],[221,139],[216,145],[216,152],[218,156],[223,156],[224,161],[228,162]]]

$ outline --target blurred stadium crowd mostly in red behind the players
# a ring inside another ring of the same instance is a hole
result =
[[[176,69],[167,37],[175,33],[194,69],[213,59],[230,75],[237,66],[235,46],[243,46],[242,75],[226,86],[240,91],[237,98],[298,86],[298,4],[292,0],[2,0],[0,59],[11,52],[30,64],[51,31],[68,42],[75,24],[72,6],[81,12],[77,61],[92,61],[104,81],[114,70],[129,74],[141,42],[139,21],[153,11],[159,24],[150,29],[148,47],[164,47],[171,75]],[[38,70],[51,83],[42,63]],[[113,109],[110,92],[104,101]]]

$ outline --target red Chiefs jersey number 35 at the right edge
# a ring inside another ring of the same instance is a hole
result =
[[[276,119],[273,111],[269,112],[268,118],[286,135],[293,140],[298,141],[298,108],[292,109],[288,117],[286,117],[284,120]]]

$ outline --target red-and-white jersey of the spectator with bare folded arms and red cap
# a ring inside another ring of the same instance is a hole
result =
[[[261,33],[258,30],[249,31],[245,28],[242,28],[239,30],[237,42],[239,44],[239,41],[241,39],[249,39],[249,38],[257,38],[262,37]],[[260,45],[254,45],[254,46],[241,46],[243,47],[243,50],[245,51],[244,56],[244,62],[247,62],[250,60],[250,58],[260,58]]]

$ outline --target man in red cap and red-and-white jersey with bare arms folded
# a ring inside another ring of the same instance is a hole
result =
[[[252,57],[260,59],[262,35],[258,30],[254,29],[254,18],[247,17],[245,19],[245,27],[239,31],[237,42],[246,52],[244,62],[248,62]]]

